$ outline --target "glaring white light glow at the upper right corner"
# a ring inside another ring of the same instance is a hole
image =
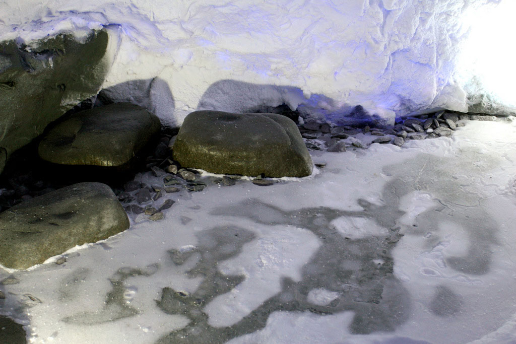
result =
[[[462,25],[469,32],[457,65],[464,84],[478,86],[495,102],[516,106],[514,13],[516,1],[511,0],[467,9]]]

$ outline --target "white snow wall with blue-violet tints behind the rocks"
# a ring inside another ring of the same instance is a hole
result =
[[[105,96],[179,125],[286,103],[345,122],[430,108],[510,114],[513,0],[0,0],[0,40],[108,28]],[[356,113],[356,111],[354,112]]]

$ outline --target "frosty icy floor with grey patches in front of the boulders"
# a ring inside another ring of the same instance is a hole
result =
[[[313,160],[2,270],[2,313],[36,343],[516,340],[516,122]]]

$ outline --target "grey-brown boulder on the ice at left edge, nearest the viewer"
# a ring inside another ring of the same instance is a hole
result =
[[[129,220],[109,186],[79,183],[0,214],[0,264],[27,269],[75,245],[125,231]]]

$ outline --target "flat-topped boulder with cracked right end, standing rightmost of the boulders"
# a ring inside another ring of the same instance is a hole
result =
[[[196,111],[173,145],[183,167],[213,173],[303,177],[312,159],[294,121],[275,113]]]

